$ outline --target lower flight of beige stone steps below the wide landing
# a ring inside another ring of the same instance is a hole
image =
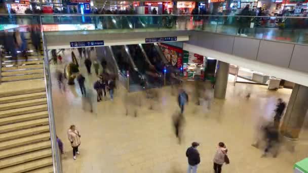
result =
[[[45,88],[0,93],[0,172],[53,172]]]

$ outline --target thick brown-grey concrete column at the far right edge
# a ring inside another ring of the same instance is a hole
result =
[[[297,139],[308,108],[308,87],[295,84],[280,127],[288,138]]]

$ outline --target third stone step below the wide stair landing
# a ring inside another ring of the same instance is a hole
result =
[[[37,106],[29,106],[29,107],[18,108],[18,109],[11,109],[11,110],[6,110],[6,111],[1,111],[0,112],[0,118],[17,116],[17,115],[24,115],[24,114],[47,111],[47,110],[48,110],[47,104],[37,105]]]

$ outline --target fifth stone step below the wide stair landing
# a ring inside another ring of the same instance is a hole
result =
[[[0,126],[0,135],[3,135],[2,133],[18,131],[20,129],[35,127],[39,125],[46,125],[46,124],[49,124],[49,118],[34,119],[30,121],[23,121],[13,124],[2,125]]]

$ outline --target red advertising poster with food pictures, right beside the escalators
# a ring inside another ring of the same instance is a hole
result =
[[[176,66],[178,68],[182,67],[182,60],[183,60],[183,49],[177,48],[174,46],[166,45],[163,43],[158,43],[159,47],[163,51],[167,61]]]

